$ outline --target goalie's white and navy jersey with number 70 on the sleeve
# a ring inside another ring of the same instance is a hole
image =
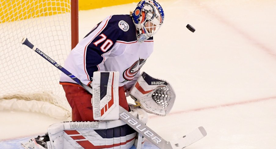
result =
[[[112,15],[97,24],[67,57],[64,68],[86,85],[94,71],[118,71],[119,86],[130,88],[153,51],[153,38],[139,44],[129,15]],[[60,84],[77,85],[61,74]]]

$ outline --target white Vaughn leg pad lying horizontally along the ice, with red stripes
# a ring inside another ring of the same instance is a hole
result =
[[[130,113],[138,117],[137,112]],[[55,123],[48,134],[48,149],[129,149],[136,137],[136,131],[122,120]]]

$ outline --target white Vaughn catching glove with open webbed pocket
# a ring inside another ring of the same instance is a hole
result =
[[[143,72],[129,91],[147,113],[166,116],[172,109],[176,95],[168,81],[156,79]]]

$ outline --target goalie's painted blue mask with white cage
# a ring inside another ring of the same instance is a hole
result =
[[[152,37],[164,21],[164,11],[155,0],[142,0],[132,13],[137,41],[142,43]]]

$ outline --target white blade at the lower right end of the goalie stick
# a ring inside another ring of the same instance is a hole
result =
[[[170,144],[173,149],[182,149],[184,147],[187,147],[194,142],[197,142],[198,140],[202,139],[207,135],[206,130],[200,126],[193,130],[192,132],[188,133],[186,136],[183,136],[179,138],[178,140],[170,141]]]

